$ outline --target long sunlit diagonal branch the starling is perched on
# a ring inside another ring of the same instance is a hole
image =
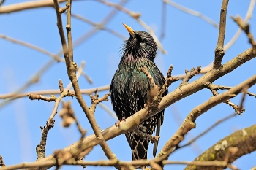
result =
[[[139,125],[140,122],[143,122],[148,117],[151,117],[152,115],[157,114],[162,109],[165,109],[166,107],[170,106],[176,101],[179,101],[182,98],[185,98],[199,90],[202,90],[203,88],[206,88],[206,85],[205,85],[206,82],[208,81],[214,82],[214,80],[217,80],[219,77],[222,77],[223,75],[233,71],[238,66],[241,66],[243,63],[245,63],[246,61],[249,61],[252,58],[255,58],[255,56],[256,55],[252,54],[252,48],[250,48],[244,51],[243,53],[239,54],[232,60],[228,61],[227,63],[223,64],[222,70],[221,72],[219,72],[219,74],[215,75],[214,71],[211,70],[210,72],[200,77],[198,80],[190,82],[189,84],[184,85],[181,88],[177,88],[176,90],[173,90],[173,92],[167,94],[167,96],[162,98],[162,101],[160,102],[158,109],[155,110],[154,112],[151,112],[151,114],[146,115],[146,112],[148,112],[148,107],[146,107],[136,112],[134,115],[128,117],[126,121],[121,121],[120,126],[118,126],[118,128],[116,128],[116,125],[113,125],[103,130],[102,135],[104,136],[104,139],[107,141],[120,134],[124,134],[124,132],[129,131],[132,128],[135,128],[135,126]],[[222,93],[219,96],[222,96],[223,94],[225,93]],[[89,143],[93,143],[94,145],[97,145],[99,144],[99,142],[100,141],[97,139],[97,137],[94,134],[91,134],[90,136],[87,136],[86,138],[83,139],[83,144],[85,146]],[[64,148],[64,150],[72,150],[76,145],[78,145],[78,142],[70,145],[69,147]],[[41,160],[39,160],[39,162],[49,161],[52,158],[53,158],[53,155],[49,155],[48,157],[42,158]]]

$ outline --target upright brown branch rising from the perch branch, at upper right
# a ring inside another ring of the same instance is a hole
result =
[[[214,58],[214,69],[219,69],[222,65],[222,58],[225,55],[223,49],[225,32],[226,32],[226,19],[227,19],[227,4],[228,0],[222,1],[222,7],[220,10],[220,19],[219,19],[219,36],[217,47],[215,48],[215,58]]]

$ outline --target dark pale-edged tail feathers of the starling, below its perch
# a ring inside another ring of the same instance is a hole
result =
[[[125,136],[127,137],[129,147],[131,147],[132,150],[132,160],[147,159],[149,140],[141,139],[140,136],[132,131],[125,133]],[[145,169],[146,166],[139,166],[135,168]]]

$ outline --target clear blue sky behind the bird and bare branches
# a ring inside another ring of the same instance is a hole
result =
[[[15,1],[15,3],[18,2],[22,1]],[[118,3],[118,1],[113,2]],[[184,7],[201,12],[203,15],[206,15],[219,24],[219,12],[222,1],[181,0],[176,2],[184,5]],[[244,18],[249,7],[249,2],[250,1],[229,2],[225,44],[230,41],[238,30],[238,26],[230,19],[230,16],[241,15],[241,17]],[[4,5],[12,3],[14,2],[6,1]],[[61,7],[64,7],[64,3],[61,4]],[[133,0],[128,1],[124,7],[133,12],[140,12],[140,19],[148,26],[151,26],[158,37],[161,35],[162,1]],[[157,58],[155,59],[157,66],[159,66],[163,74],[167,72],[170,64],[173,64],[173,74],[183,74],[186,68],[191,69],[197,66],[207,66],[211,63],[214,60],[214,49],[217,44],[218,29],[200,18],[181,12],[169,5],[167,5],[166,8],[165,37],[162,40],[162,45],[167,51],[167,54],[164,55],[158,51]],[[111,7],[106,7],[104,4],[97,1],[73,1],[72,3],[73,13],[82,15],[94,21],[94,23],[102,22],[111,10]],[[256,35],[255,15],[256,13],[254,11],[249,21],[249,23],[251,23],[252,34],[254,35]],[[62,15],[62,17],[65,26],[66,16]],[[61,41],[56,26],[56,13],[52,7],[1,14],[0,20],[0,34],[29,42],[51,53],[58,53],[61,49]],[[128,38],[129,34],[122,23],[126,23],[134,30],[145,31],[133,18],[120,11],[111,18],[106,24],[106,27]],[[88,33],[91,29],[93,29],[93,26],[88,23],[72,18],[73,41]],[[123,39],[120,39],[118,36],[114,36],[107,31],[97,31],[96,34],[90,36],[89,39],[86,39],[86,41],[78,45],[78,47],[74,47],[75,62],[80,65],[81,61],[86,61],[84,71],[94,82],[90,85],[86,79],[80,77],[80,88],[97,88],[102,85],[110,84],[121,58],[120,50],[122,45]],[[229,61],[249,47],[250,45],[246,35],[241,33],[234,45],[226,51],[222,63]],[[0,39],[0,50],[0,94],[11,93],[18,90],[21,85],[28,82],[35,72],[38,72],[45,63],[51,60],[48,55],[13,44],[4,39]],[[237,85],[255,74],[255,65],[256,60],[252,59],[252,61],[245,63],[232,73],[219,78],[214,84],[227,86]],[[196,80],[198,77],[200,76],[195,76],[192,80]],[[42,77],[39,78],[39,82],[31,85],[24,92],[58,89],[59,79],[64,82],[64,86],[67,86],[69,83],[66,66],[64,63],[56,62],[50,69],[42,74]],[[179,82],[173,83],[169,91],[174,90],[178,85]],[[249,91],[256,93],[256,88],[252,87]],[[103,96],[105,93],[108,93],[108,91],[100,92],[99,95]],[[210,97],[210,90],[201,90],[165,109],[165,120],[161,130],[158,151],[164,146],[167,139],[178,129],[189,112]],[[91,103],[89,96],[84,96],[84,98],[88,104]],[[69,100],[72,101],[72,107],[75,109],[75,114],[83,128],[88,130],[88,135],[92,134],[93,132],[89,122],[82,109],[80,109],[78,102],[75,98],[64,98],[64,101]],[[241,95],[238,95],[231,101],[235,104],[239,104],[240,100]],[[238,129],[254,125],[256,123],[255,100],[256,99],[252,96],[246,96],[244,103],[246,112],[244,112],[242,116],[233,117],[225,123],[218,125],[208,134],[198,139],[196,144],[174,152],[170,155],[169,160],[192,161],[197,155],[200,155],[200,153],[207,150],[208,147],[211,147],[228,134]],[[2,102],[2,100],[0,100],[0,102]],[[112,110],[110,101],[105,101],[103,104]],[[3,156],[4,162],[7,165],[36,160],[37,155],[35,147],[39,144],[41,136],[39,126],[45,125],[45,121],[48,120],[50,112],[52,112],[53,105],[53,103],[44,101],[30,101],[29,98],[20,98],[0,109],[0,155]],[[217,120],[231,113],[233,113],[233,109],[228,107],[227,104],[219,104],[217,107],[210,109],[197,118],[197,128],[189,131],[189,134],[185,136],[185,140],[182,143],[185,144],[189,139],[192,139],[193,136],[197,136],[197,134],[200,134],[200,132]],[[97,107],[95,117],[102,129],[108,128],[116,121],[100,107]],[[46,155],[50,155],[56,149],[67,147],[80,138],[80,134],[75,125],[72,125],[70,128],[61,127],[61,118],[59,115],[56,115],[55,120],[54,128],[48,133]],[[117,155],[118,159],[125,161],[130,160],[131,151],[124,135],[108,141],[108,144],[111,150]],[[151,152],[152,146],[149,147],[148,158],[153,157]],[[86,156],[86,160],[95,161],[99,159],[106,159],[106,157],[101,148],[96,146],[91,153]],[[238,166],[240,169],[252,168],[255,166],[255,152],[239,158],[234,165]],[[184,169],[184,167],[185,166],[166,166],[166,169]],[[62,169],[70,169],[70,166],[66,166]],[[72,169],[82,168],[75,166],[72,167]],[[114,168],[88,166],[86,169]]]

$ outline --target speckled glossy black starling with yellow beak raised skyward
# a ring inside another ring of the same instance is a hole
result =
[[[124,46],[121,47],[121,60],[110,84],[111,103],[119,121],[143,109],[148,101],[151,83],[146,74],[140,72],[141,67],[147,67],[155,84],[160,88],[165,83],[165,77],[154,63],[157,55],[157,43],[154,38],[146,31],[134,31],[126,24],[123,23],[123,25],[129,32],[129,39],[124,41]],[[167,93],[166,90],[162,96]],[[140,123],[140,127],[144,129],[143,132],[152,135],[157,127],[156,136],[159,136],[164,112],[165,110],[162,110]],[[149,139],[141,138],[134,131],[126,132],[125,136],[132,150],[132,160],[147,159]],[[157,144],[158,142],[154,143],[154,157]],[[146,166],[136,168],[145,169]]]

